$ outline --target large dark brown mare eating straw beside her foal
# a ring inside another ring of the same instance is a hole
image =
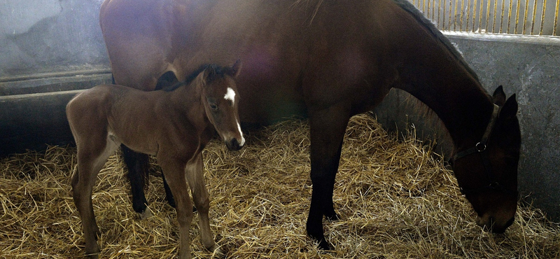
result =
[[[349,118],[373,109],[391,87],[414,95],[444,123],[477,223],[503,232],[513,222],[517,102],[506,101],[501,87],[493,98],[487,94],[447,38],[406,0],[106,0],[100,23],[119,84],[154,90],[167,71],[183,80],[197,64],[241,59],[241,122],[309,118],[307,234],[321,248],[330,248],[323,215],[338,218],[332,190]]]

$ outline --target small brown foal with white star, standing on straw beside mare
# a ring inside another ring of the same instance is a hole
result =
[[[92,187],[99,170],[120,144],[155,155],[173,196],[181,239],[179,258],[190,258],[189,229],[193,219],[193,193],[200,215],[202,243],[223,253],[209,225],[209,197],[204,184],[202,149],[214,130],[230,150],[245,139],[239,127],[239,94],[233,66],[201,66],[186,83],[170,91],[144,92],[122,85],[98,85],[74,97],[66,116],[78,148],[78,170],[73,174],[73,200],[80,212],[85,253],[98,258],[99,228],[92,207]]]

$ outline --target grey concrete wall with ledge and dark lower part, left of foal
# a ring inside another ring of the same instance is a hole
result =
[[[73,91],[111,83],[102,1],[0,1],[0,156],[69,143]]]

